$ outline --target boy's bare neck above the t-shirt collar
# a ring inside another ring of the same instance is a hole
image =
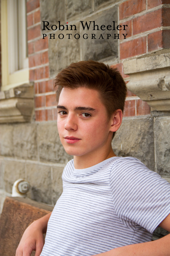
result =
[[[74,167],[75,169],[85,169],[93,165],[99,164],[104,160],[116,156],[110,145],[108,151],[98,150],[97,152],[90,152],[83,156],[74,156]]]

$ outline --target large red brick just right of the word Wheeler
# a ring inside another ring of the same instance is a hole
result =
[[[161,9],[133,19],[133,35],[162,26]]]

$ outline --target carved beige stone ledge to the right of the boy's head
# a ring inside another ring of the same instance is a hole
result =
[[[127,88],[155,110],[170,111],[170,52],[155,54],[123,62]]]

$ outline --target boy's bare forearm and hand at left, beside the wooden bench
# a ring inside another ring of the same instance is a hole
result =
[[[16,256],[30,256],[32,251],[36,251],[35,256],[39,256],[44,246],[43,233],[46,233],[48,220],[51,212],[44,217],[32,222],[21,238],[16,250]]]

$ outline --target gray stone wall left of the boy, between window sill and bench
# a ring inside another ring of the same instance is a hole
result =
[[[0,125],[0,194],[11,195],[23,178],[31,186],[27,196],[54,205],[62,193],[61,175],[67,155],[56,122]]]

